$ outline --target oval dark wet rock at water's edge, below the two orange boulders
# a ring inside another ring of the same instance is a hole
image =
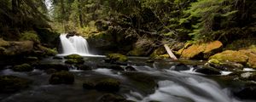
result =
[[[215,69],[213,67],[207,67],[203,66],[202,68],[198,68],[195,70],[195,72],[199,72],[206,75],[220,75],[220,71],[218,69]]]

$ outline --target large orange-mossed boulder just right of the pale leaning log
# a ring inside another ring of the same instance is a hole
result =
[[[223,44],[219,41],[193,44],[183,49],[181,58],[185,59],[208,59],[212,54],[218,53]]]

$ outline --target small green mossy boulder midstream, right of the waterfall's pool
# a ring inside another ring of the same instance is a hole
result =
[[[115,61],[126,62],[128,60],[128,58],[123,54],[108,54],[107,58],[113,62]]]

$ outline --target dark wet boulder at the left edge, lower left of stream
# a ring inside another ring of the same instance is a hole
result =
[[[20,89],[28,88],[30,80],[14,76],[0,77],[0,92],[1,93],[14,93]]]

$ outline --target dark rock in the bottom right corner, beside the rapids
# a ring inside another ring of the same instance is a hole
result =
[[[256,87],[245,87],[237,91],[235,95],[241,99],[256,99]]]

